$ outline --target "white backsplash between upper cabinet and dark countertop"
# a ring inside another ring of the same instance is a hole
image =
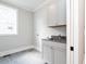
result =
[[[57,27],[57,28],[45,28],[42,34],[40,35],[42,39],[51,37],[51,36],[66,36],[66,27]]]

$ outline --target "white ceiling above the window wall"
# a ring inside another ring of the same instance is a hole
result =
[[[41,5],[46,1],[47,0],[0,0],[0,2],[4,2],[28,11],[36,10],[39,5]]]

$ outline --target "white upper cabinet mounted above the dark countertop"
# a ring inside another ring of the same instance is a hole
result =
[[[66,25],[66,0],[53,0],[48,5],[48,26]]]

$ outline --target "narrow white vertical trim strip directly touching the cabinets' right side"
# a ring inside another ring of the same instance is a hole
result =
[[[71,20],[71,1],[66,0],[66,64],[70,64],[70,41],[71,41],[71,34],[70,34],[70,20]]]

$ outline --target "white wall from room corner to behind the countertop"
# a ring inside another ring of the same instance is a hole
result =
[[[66,35],[66,27],[48,27],[48,5],[42,7],[41,9],[35,12],[34,27],[35,27],[35,47],[38,50],[41,50],[41,39],[45,39],[51,35]]]

